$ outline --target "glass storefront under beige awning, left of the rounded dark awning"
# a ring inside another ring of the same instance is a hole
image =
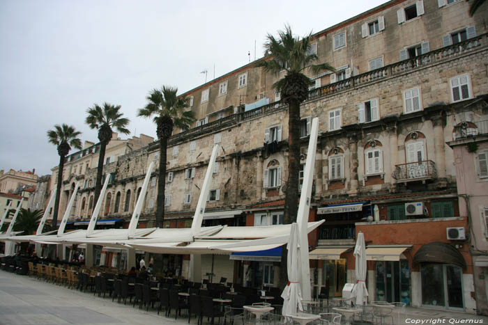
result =
[[[410,305],[411,276],[408,260],[376,262],[376,300]]]

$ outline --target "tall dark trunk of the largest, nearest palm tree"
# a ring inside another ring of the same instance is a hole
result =
[[[298,214],[298,174],[300,173],[300,102],[293,100],[288,105],[288,180],[284,197],[284,224],[296,222]],[[280,263],[280,288],[287,285],[287,246],[282,246]]]

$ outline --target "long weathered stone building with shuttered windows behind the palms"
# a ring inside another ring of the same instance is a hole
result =
[[[336,68],[309,75],[300,125],[305,164],[310,120],[319,118],[310,221],[326,222],[309,235],[310,266],[314,285],[330,296],[356,281],[352,250],[362,231],[370,301],[481,311],[469,238],[455,234],[468,232],[471,212],[458,199],[459,154],[447,143],[488,120],[487,13],[482,6],[470,17],[460,0],[394,0],[312,35],[310,51]],[[281,77],[250,63],[182,95],[197,121],[169,140],[165,227],[190,227],[215,144],[204,224],[282,223],[288,116],[273,89]],[[103,198],[107,219],[130,215],[148,164],[158,159],[153,143],[105,167],[114,175]],[[139,227],[154,225],[156,175]],[[89,216],[90,193],[79,194],[76,216]],[[187,274],[188,260],[166,255],[165,267]],[[253,284],[274,286],[280,251],[201,261],[204,275],[243,283],[251,267]]]

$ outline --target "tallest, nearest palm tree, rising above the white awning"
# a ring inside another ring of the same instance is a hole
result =
[[[288,180],[284,203],[284,223],[296,221],[298,212],[298,176],[300,173],[300,103],[307,99],[312,81],[303,72],[309,70],[317,74],[323,70],[334,71],[327,63],[314,65],[318,60],[316,54],[309,53],[312,33],[300,40],[293,37],[291,27],[285,25],[284,31],[278,31],[278,38],[268,33],[264,44],[265,58],[257,63],[266,72],[280,74],[273,87],[280,91],[282,101],[288,104]]]

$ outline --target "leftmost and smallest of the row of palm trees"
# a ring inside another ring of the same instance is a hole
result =
[[[70,152],[71,147],[82,149],[82,141],[77,138],[82,132],[76,131],[71,125],[54,125],[54,130],[47,131],[49,143],[57,146],[59,154],[58,180],[56,185],[56,198],[54,200],[54,214],[52,216],[52,230],[56,230],[58,222],[59,198],[61,196],[61,183],[63,182],[64,159]]]

